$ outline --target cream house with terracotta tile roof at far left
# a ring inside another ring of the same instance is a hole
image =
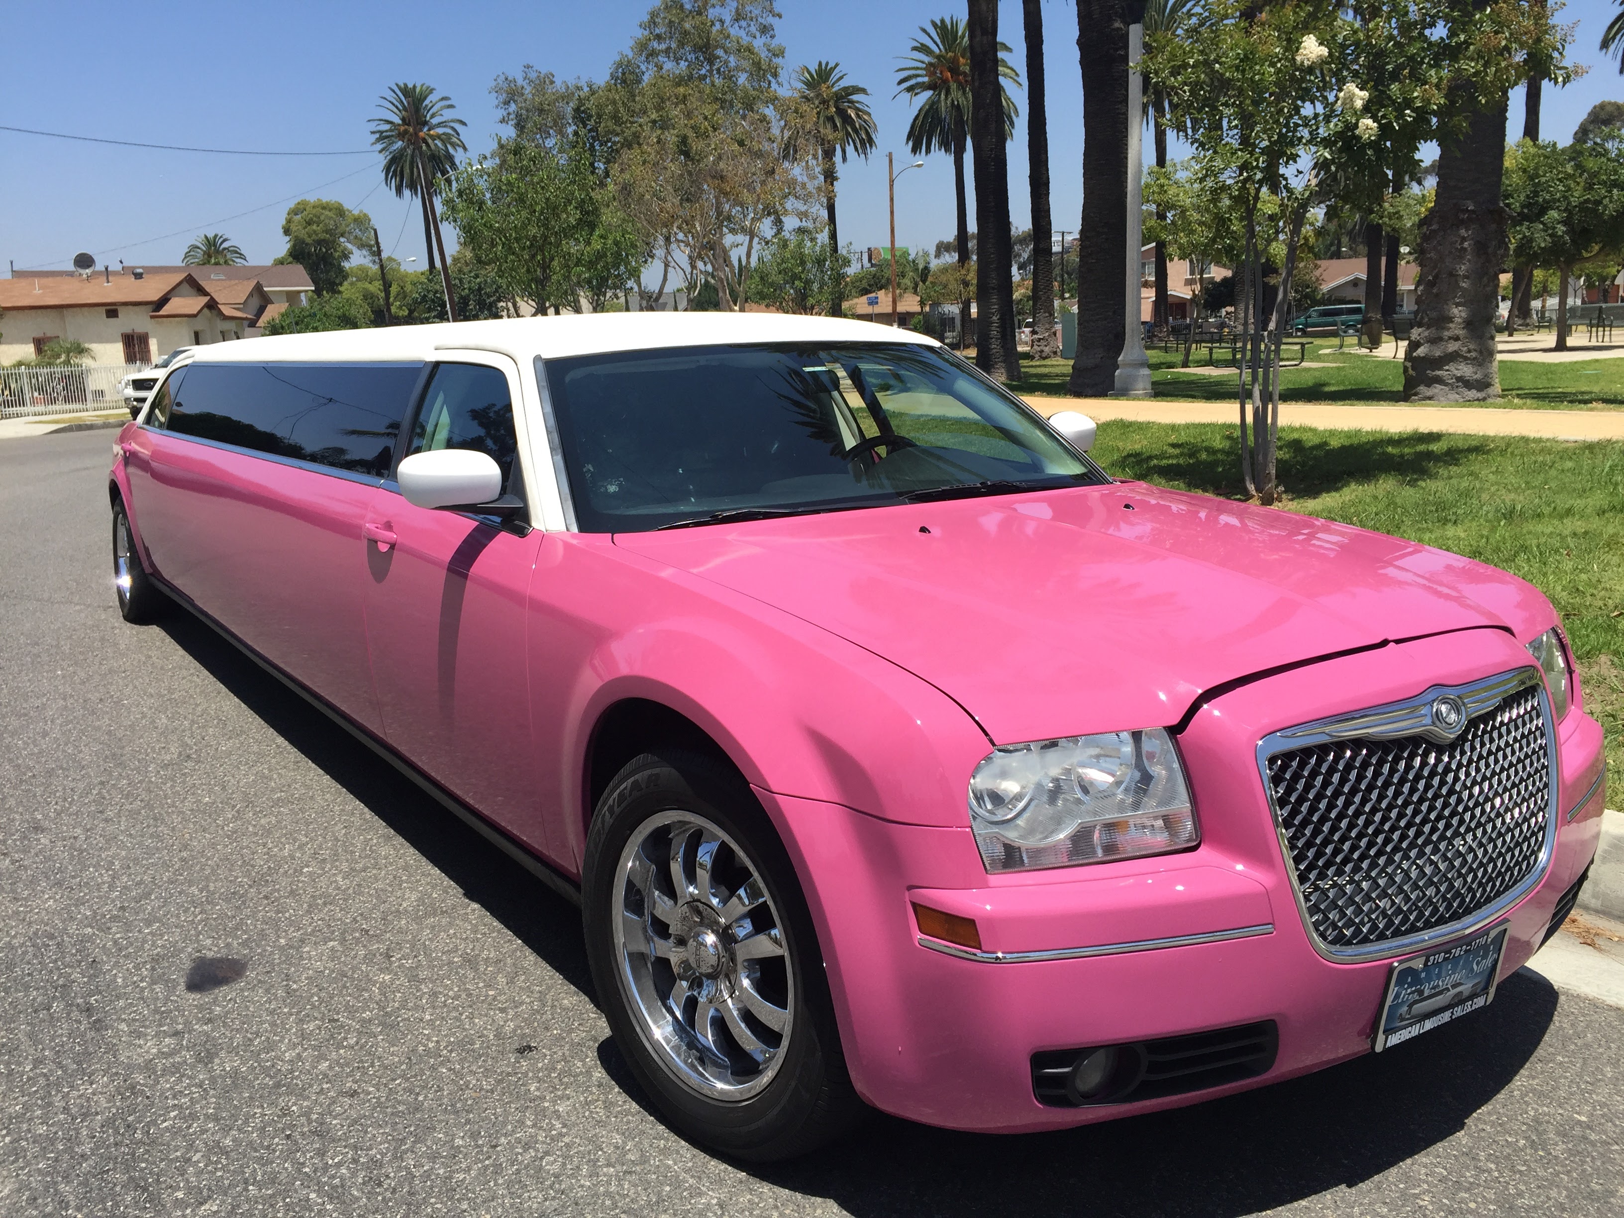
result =
[[[193,270],[0,279],[0,364],[32,359],[55,338],[84,343],[104,365],[149,364],[175,348],[242,338],[255,322],[242,307],[257,300],[253,286],[234,304],[213,296]]]

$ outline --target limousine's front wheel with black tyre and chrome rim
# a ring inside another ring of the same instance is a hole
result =
[[[599,1002],[679,1132],[775,1161],[854,1122],[810,914],[737,775],[698,754],[633,758],[599,801],[583,870]]]

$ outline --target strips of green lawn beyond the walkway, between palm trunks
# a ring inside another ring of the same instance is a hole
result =
[[[1577,343],[1575,348],[1582,348]],[[1392,352],[1392,343],[1385,352]],[[1324,369],[1283,369],[1280,378],[1281,401],[1333,401],[1351,406],[1398,404],[1405,385],[1403,359],[1389,354],[1356,356],[1343,349],[1337,339],[1319,341],[1309,349],[1309,361],[1330,364]],[[1182,351],[1150,349],[1151,378],[1158,396],[1186,401],[1234,401],[1236,377],[1199,375],[1179,372]],[[1291,352],[1288,351],[1288,357]],[[1197,349],[1195,364],[1205,362],[1205,351]],[[1021,365],[1025,380],[1021,393],[1065,395],[1065,380],[1072,365],[1064,359],[1026,361]],[[1587,359],[1572,364],[1528,364],[1522,361],[1501,362],[1499,403],[1465,403],[1473,406],[1499,404],[1522,409],[1624,409],[1624,359]],[[1429,403],[1431,404],[1431,403]]]

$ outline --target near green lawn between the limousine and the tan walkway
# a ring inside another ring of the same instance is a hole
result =
[[[1236,429],[1103,422],[1116,477],[1239,497]],[[1286,507],[1465,554],[1538,585],[1562,615],[1587,710],[1624,773],[1624,443],[1280,430]],[[1618,796],[1609,802],[1618,804]]]

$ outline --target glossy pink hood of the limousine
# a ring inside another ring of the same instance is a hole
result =
[[[1453,554],[1143,484],[622,533],[615,544],[929,680],[997,744],[1177,723],[1223,682],[1471,627],[1531,585]]]

